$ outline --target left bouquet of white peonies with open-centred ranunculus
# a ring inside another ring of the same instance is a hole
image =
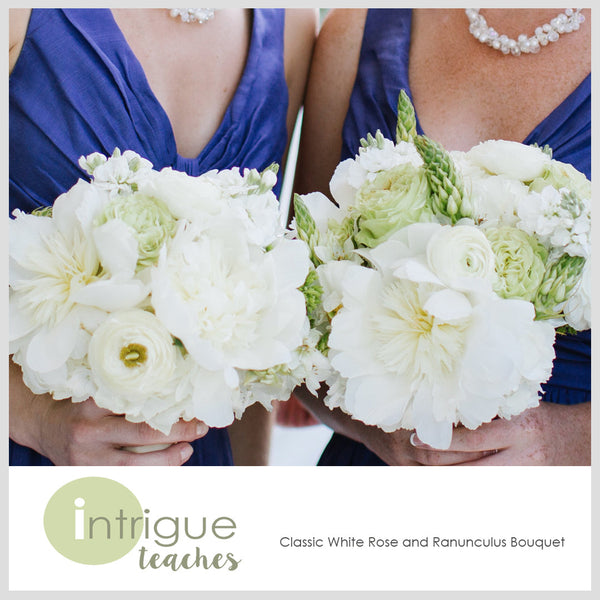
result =
[[[34,393],[167,433],[316,391],[311,263],[280,225],[276,166],[191,177],[118,149],[80,165],[90,182],[9,224],[9,350]]]

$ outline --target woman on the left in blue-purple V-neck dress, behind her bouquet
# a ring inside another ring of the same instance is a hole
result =
[[[86,177],[81,155],[116,147],[190,175],[283,167],[315,32],[311,9],[217,10],[205,22],[169,9],[11,10],[10,210],[52,203]],[[229,431],[180,421],[165,437],[92,399],[36,397],[12,361],[10,401],[12,465],[264,464],[268,455],[260,407]],[[122,450],[165,441],[149,454]]]

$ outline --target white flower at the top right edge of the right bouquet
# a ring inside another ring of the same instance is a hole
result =
[[[481,142],[466,157],[492,175],[523,182],[541,177],[552,160],[541,148],[507,140]]]

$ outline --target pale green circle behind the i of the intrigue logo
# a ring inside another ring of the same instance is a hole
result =
[[[44,529],[63,556],[102,565],[132,550],[144,529],[138,499],[105,477],[84,477],[61,487],[48,501]]]

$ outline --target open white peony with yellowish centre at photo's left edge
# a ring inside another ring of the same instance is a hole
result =
[[[105,199],[83,181],[54,203],[52,217],[15,211],[9,222],[10,350],[39,373],[59,369],[102,315],[147,296],[132,279],[137,255],[97,247],[93,221]],[[115,260],[104,256],[114,256]]]

